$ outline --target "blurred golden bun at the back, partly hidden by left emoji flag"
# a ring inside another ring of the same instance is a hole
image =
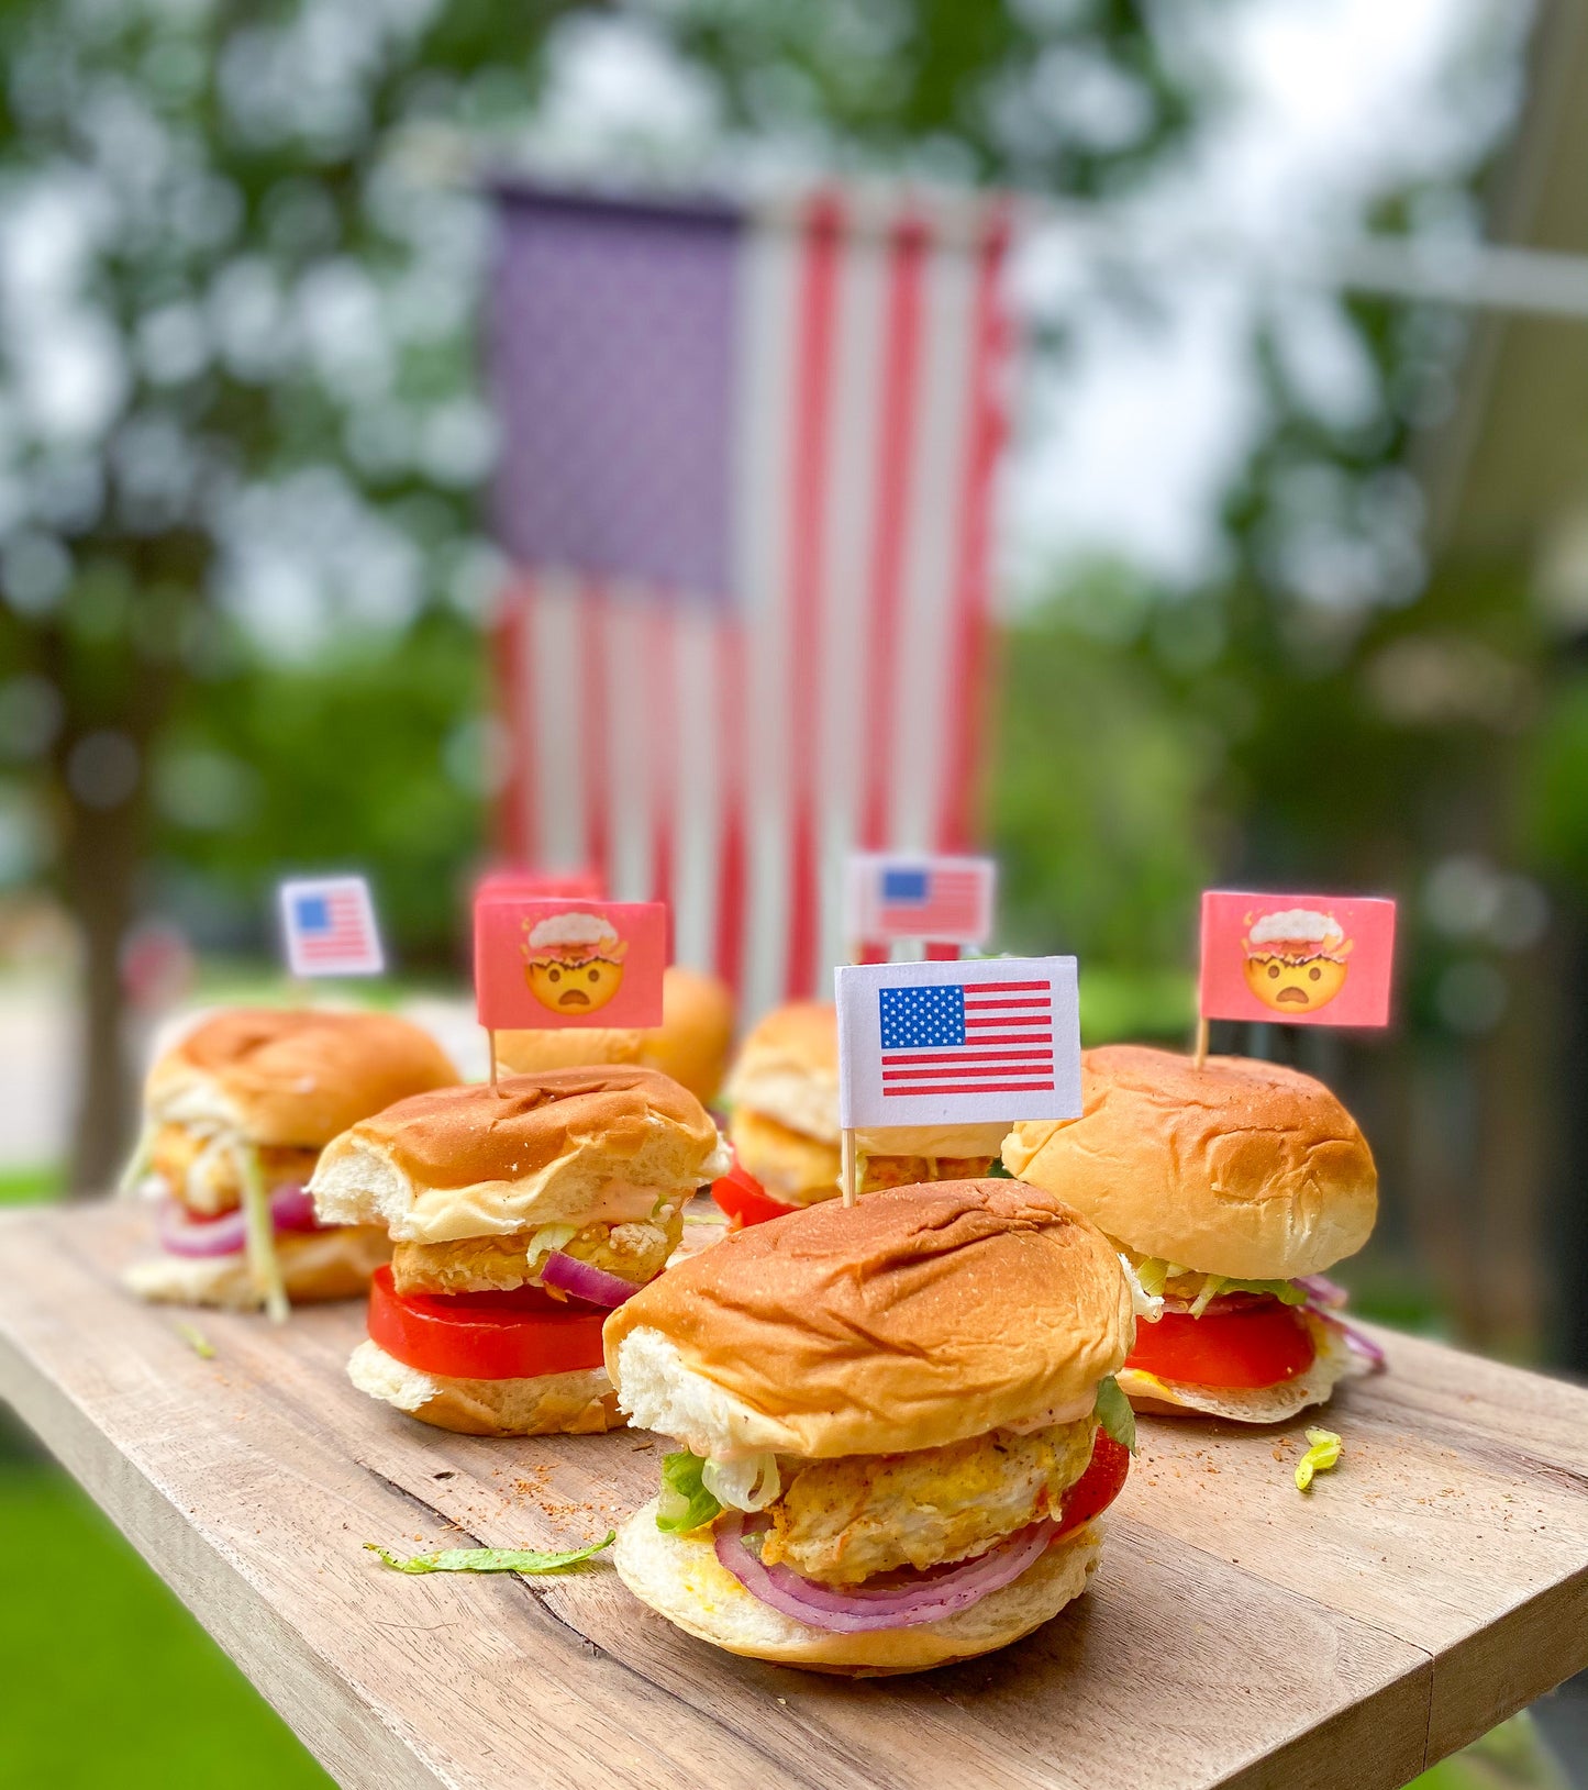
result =
[[[496,1063],[512,1076],[584,1063],[641,1063],[711,1101],[734,1042],[734,997],[727,983],[670,963],[662,972],[662,1022],[643,1031],[568,1026],[559,1031],[499,1031]]]

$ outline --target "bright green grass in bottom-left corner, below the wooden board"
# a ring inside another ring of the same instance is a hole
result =
[[[0,1453],[4,1790],[331,1779],[88,1498]]]

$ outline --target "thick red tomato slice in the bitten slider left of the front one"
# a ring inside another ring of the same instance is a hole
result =
[[[394,1360],[448,1380],[532,1380],[602,1366],[605,1312],[539,1287],[397,1292],[390,1267],[369,1285],[369,1335]]]

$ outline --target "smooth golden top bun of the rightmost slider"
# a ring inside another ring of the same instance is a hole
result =
[[[1373,1153],[1321,1081],[1114,1044],[1081,1056],[1081,1088],[1080,1119],[1017,1124],[1004,1164],[1126,1248],[1203,1274],[1289,1280],[1368,1240]]]

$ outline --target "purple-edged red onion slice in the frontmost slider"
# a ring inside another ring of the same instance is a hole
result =
[[[999,1591],[1040,1559],[1058,1525],[1033,1523],[1008,1536],[986,1554],[952,1566],[935,1566],[909,1584],[886,1591],[840,1591],[816,1584],[784,1564],[766,1566],[745,1545],[745,1518],[729,1513],[716,1530],[716,1557],[739,1584],[772,1609],[829,1634],[863,1634],[870,1629],[913,1629],[969,1609],[990,1591]]]

